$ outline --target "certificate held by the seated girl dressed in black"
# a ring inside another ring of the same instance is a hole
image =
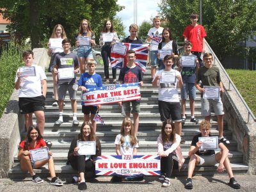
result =
[[[79,156],[95,155],[96,153],[95,141],[77,141],[77,147],[79,147]]]

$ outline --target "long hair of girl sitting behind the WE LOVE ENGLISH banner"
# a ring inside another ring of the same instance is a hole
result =
[[[130,141],[129,141],[129,143],[131,143],[132,146],[133,146],[133,145],[136,145],[136,143],[137,143],[137,138],[136,138],[136,136],[135,136],[135,134],[134,134],[134,129],[133,129],[132,120],[131,120],[131,118],[129,118],[129,117],[125,117],[124,120],[123,120],[123,122],[122,122],[122,127],[121,127],[121,130],[120,130],[120,133],[121,133],[121,139],[120,139],[121,145],[123,145],[124,142],[125,142],[125,138],[124,138],[124,137],[125,137],[125,134],[124,134],[124,127],[127,126],[127,125],[130,125],[130,126],[131,126],[131,130],[130,130],[130,132],[129,132],[129,136],[130,136]]]

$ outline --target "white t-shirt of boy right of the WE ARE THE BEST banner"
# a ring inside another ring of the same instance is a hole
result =
[[[156,78],[156,76],[161,75],[161,72],[163,72],[163,70],[157,70],[154,79]],[[180,72],[177,70],[170,70],[171,72],[175,72],[176,76],[180,75]],[[154,81],[153,79],[153,81]],[[177,89],[177,83],[178,83],[178,79],[176,79],[176,83],[160,83],[159,81],[157,81],[157,85],[159,86],[159,96],[158,96],[158,100],[163,100],[165,102],[180,102],[179,99],[179,93],[178,93],[178,89]]]

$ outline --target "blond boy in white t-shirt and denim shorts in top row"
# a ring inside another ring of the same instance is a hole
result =
[[[158,64],[158,44],[162,41],[162,33],[163,29],[160,27],[161,20],[160,17],[157,15],[154,17],[154,28],[150,28],[148,31],[148,42],[150,44],[150,62],[151,62],[151,77],[153,78],[156,74],[156,66]]]

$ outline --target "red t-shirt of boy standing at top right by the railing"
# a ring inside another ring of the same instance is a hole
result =
[[[192,43],[193,47],[191,51],[202,52],[203,49],[203,38],[206,36],[203,26],[199,24],[197,26],[189,25],[185,28],[182,36],[188,38]]]

